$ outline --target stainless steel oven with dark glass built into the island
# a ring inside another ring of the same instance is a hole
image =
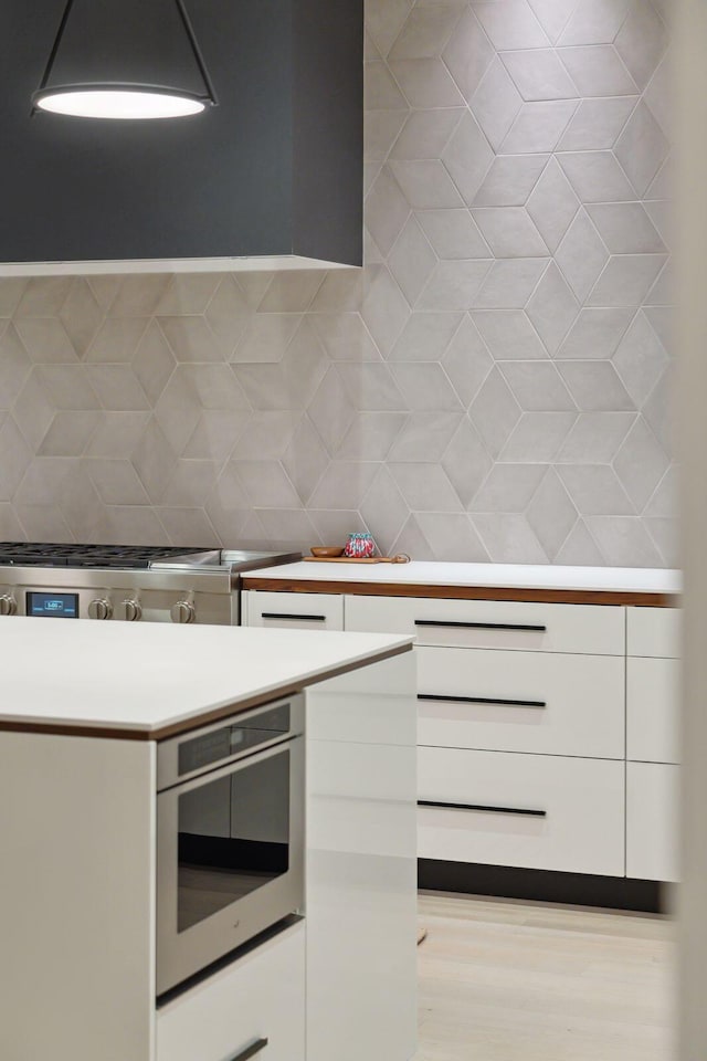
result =
[[[304,698],[159,744],[157,994],[304,904]]]

